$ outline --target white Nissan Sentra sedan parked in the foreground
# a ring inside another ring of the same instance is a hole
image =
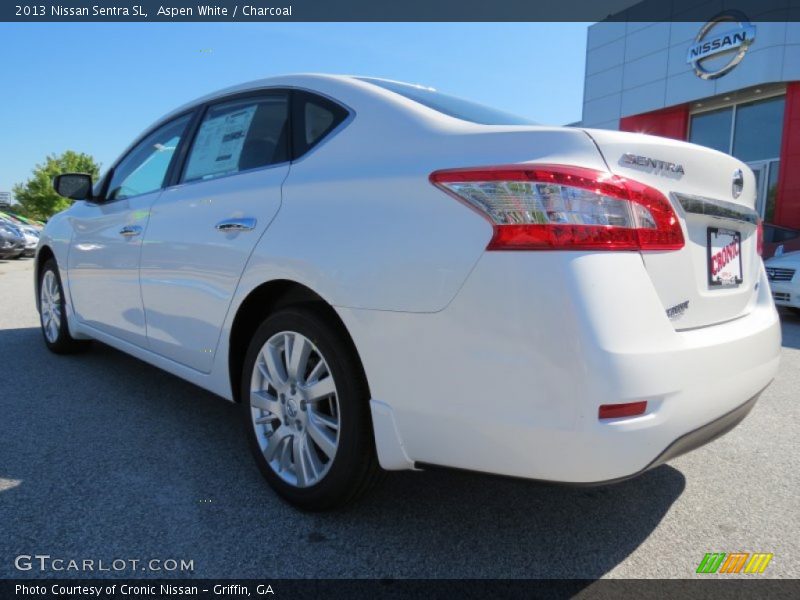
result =
[[[272,487],[380,468],[617,481],[730,430],[780,324],[753,173],[430,88],[290,76],[189,103],[50,219],[53,352],[96,339],[238,402]]]

